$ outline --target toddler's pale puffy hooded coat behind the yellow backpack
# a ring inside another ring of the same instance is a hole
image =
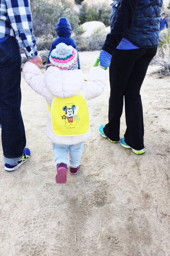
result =
[[[23,66],[23,75],[27,84],[41,94],[51,106],[53,97],[68,98],[80,92],[86,100],[99,96],[104,89],[106,71],[100,67],[91,68],[89,81],[84,81],[81,69],[60,70],[56,67],[49,67],[44,76],[40,69],[31,62]],[[77,136],[57,136],[53,133],[51,116],[47,110],[47,137],[56,144],[74,145],[89,139],[91,130],[86,134]]]

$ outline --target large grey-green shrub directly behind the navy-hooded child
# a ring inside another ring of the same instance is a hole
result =
[[[73,10],[73,6],[66,0],[32,0],[32,26],[36,37],[52,35],[56,37],[56,25],[60,17],[66,17],[72,27],[77,29],[80,23],[79,17]]]

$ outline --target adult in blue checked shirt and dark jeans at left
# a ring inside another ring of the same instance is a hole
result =
[[[41,58],[32,34],[29,0],[0,1],[0,126],[5,170],[17,169],[30,157],[25,148],[25,129],[21,116],[21,55],[40,68]]]

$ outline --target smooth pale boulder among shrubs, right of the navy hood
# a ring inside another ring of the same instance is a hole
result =
[[[100,21],[89,21],[82,24],[83,28],[86,32],[82,35],[84,37],[89,37],[97,28],[101,28],[102,30],[106,28],[106,26]]]

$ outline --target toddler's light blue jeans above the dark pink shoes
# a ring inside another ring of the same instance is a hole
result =
[[[79,166],[82,156],[83,142],[75,145],[61,145],[52,142],[55,158],[55,166],[60,163],[64,163],[68,166],[67,155],[69,152],[69,165]]]

